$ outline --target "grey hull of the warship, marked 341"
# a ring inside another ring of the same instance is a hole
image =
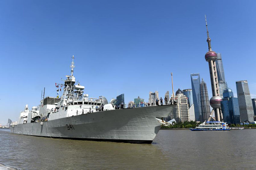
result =
[[[176,105],[108,110],[45,122],[17,124],[11,133],[63,139],[151,143]],[[51,113],[55,114],[55,113]]]

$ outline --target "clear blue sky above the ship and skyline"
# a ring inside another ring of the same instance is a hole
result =
[[[41,91],[56,96],[55,82],[74,75],[90,97],[125,94],[125,102],[149,91],[159,97],[191,88],[200,73],[211,94],[204,14],[212,49],[223,58],[226,81],[247,79],[256,97],[256,1],[0,1],[0,124],[13,121]]]

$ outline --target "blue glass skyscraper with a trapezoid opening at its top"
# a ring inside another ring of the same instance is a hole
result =
[[[192,96],[195,111],[195,121],[200,121],[201,113],[201,92],[200,92],[200,74],[194,73],[191,76]]]

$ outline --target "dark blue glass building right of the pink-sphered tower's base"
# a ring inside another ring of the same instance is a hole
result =
[[[234,97],[231,89],[224,90],[220,105],[224,122],[228,124],[240,124],[238,99]]]

